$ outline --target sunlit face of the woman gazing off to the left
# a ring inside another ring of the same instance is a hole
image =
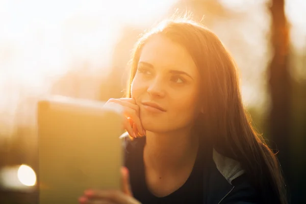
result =
[[[190,127],[200,110],[199,84],[198,69],[183,46],[161,35],[149,39],[131,88],[144,129],[165,133]]]

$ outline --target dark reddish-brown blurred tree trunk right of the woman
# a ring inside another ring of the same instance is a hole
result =
[[[284,0],[272,0],[271,46],[273,57],[268,68],[271,109],[269,113],[270,137],[279,151],[277,156],[290,185],[291,134],[291,76],[289,71],[289,25],[284,10]]]

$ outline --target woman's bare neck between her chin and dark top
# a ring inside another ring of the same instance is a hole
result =
[[[192,134],[190,129],[167,134],[146,131],[145,166],[159,174],[180,171],[194,164],[198,144],[197,135]]]

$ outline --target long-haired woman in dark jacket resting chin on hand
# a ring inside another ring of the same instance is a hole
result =
[[[202,25],[167,21],[144,35],[127,98],[107,103],[128,117],[123,190],[88,190],[80,202],[287,203],[238,81],[233,58]]]

